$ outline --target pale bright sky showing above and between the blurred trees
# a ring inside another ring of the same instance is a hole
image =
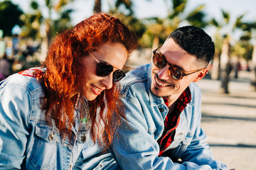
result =
[[[4,0],[0,0],[4,1]],[[11,0],[14,4],[21,6],[23,11],[28,11],[31,0]],[[37,0],[39,4],[44,4],[45,0]],[[75,11],[72,14],[72,23],[76,24],[92,15],[92,8],[95,0],[75,0],[70,7]],[[147,18],[159,16],[164,18],[171,8],[171,0],[133,0],[135,16]],[[102,0],[102,11],[107,12],[110,6],[114,6],[113,0]],[[221,9],[230,13],[232,21],[243,13],[246,13],[245,20],[256,21],[256,1],[255,0],[188,0],[187,11],[191,11],[196,6],[205,4],[205,11],[208,18],[220,19]]]

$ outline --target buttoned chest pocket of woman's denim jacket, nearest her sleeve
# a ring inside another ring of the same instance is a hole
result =
[[[28,162],[33,169],[55,169],[60,147],[60,135],[53,127],[37,124],[33,147],[28,152]],[[29,168],[32,169],[32,168]]]

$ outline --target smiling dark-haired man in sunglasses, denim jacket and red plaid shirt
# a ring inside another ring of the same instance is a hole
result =
[[[213,159],[200,127],[201,91],[215,52],[201,28],[174,30],[152,63],[127,73],[121,98],[125,118],[112,153],[121,169],[227,169]]]

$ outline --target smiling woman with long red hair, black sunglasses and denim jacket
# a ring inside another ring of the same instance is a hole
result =
[[[97,13],[56,35],[42,67],[1,81],[0,169],[73,169],[87,142],[107,149],[136,47],[118,18]]]

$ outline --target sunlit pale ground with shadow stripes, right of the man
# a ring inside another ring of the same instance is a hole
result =
[[[256,169],[256,91],[248,72],[230,81],[230,94],[220,94],[220,81],[198,81],[203,93],[201,126],[215,159],[236,170]]]

